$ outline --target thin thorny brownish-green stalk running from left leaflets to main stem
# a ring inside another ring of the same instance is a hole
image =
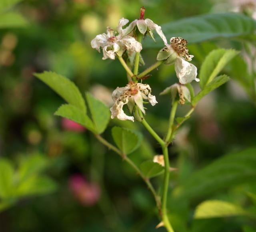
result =
[[[98,139],[98,141],[100,141],[106,147],[108,147],[109,149],[111,149],[112,151],[114,151],[118,155],[120,155],[123,158],[123,160],[126,161],[140,175],[140,177],[144,180],[144,182],[148,186],[149,190],[152,192],[152,194],[155,198],[155,201],[156,201],[156,206],[158,208],[158,211],[161,213],[161,200],[160,200],[160,197],[158,196],[158,194],[156,193],[156,190],[152,186],[150,180],[146,176],[144,176],[144,174],[140,171],[140,169],[133,163],[133,161],[131,159],[129,159],[127,157],[126,154],[123,154],[122,151],[120,151],[117,147],[115,147],[114,145],[112,145],[111,143],[106,141],[106,139],[102,138],[100,135],[97,135],[97,134],[94,134],[94,135],[95,135],[96,139]]]

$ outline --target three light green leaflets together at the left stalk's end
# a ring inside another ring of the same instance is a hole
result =
[[[106,105],[95,99],[90,93],[86,93],[91,116],[89,117],[84,98],[72,81],[50,71],[35,73],[34,75],[51,87],[68,103],[61,105],[55,112],[55,115],[75,121],[94,134],[101,134],[105,131],[110,120],[110,110]]]

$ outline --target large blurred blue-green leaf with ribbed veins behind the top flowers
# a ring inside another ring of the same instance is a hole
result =
[[[199,15],[162,25],[167,40],[182,37],[188,43],[198,43],[217,38],[234,38],[254,34],[255,21],[238,13]],[[144,48],[163,48],[162,40],[157,36],[156,43],[146,41]]]

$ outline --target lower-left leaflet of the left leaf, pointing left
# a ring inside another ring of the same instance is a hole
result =
[[[90,131],[96,131],[92,123],[92,120],[80,109],[74,105],[65,104],[61,105],[58,110],[54,113],[67,119],[70,119],[76,123],[79,123],[89,129]]]

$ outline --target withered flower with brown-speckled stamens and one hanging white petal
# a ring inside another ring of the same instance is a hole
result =
[[[170,45],[167,45],[158,52],[157,60],[166,60],[165,64],[174,63],[177,77],[181,84],[190,83],[193,80],[200,81],[197,76],[197,68],[191,61],[194,56],[188,54],[186,44],[188,42],[180,37],[170,39]]]

